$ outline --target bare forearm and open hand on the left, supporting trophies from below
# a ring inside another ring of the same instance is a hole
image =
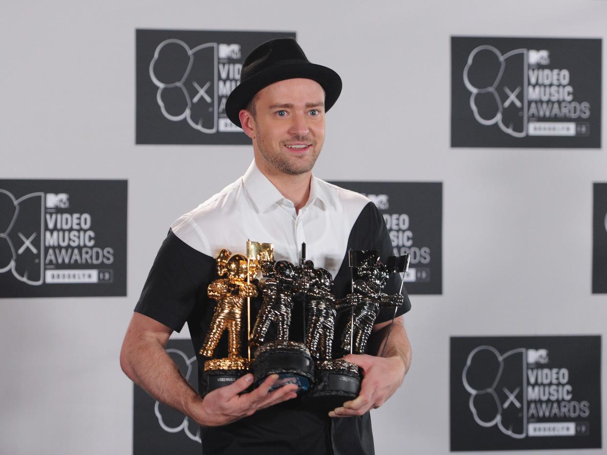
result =
[[[296,385],[283,386],[269,393],[277,375],[268,377],[253,392],[240,394],[253,382],[253,374],[246,374],[201,398],[164,350],[171,332],[171,328],[135,312],[124,335],[120,366],[126,376],[152,397],[200,425],[225,425],[250,416],[257,409],[296,397]]]

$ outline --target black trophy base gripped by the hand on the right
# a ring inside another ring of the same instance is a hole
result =
[[[324,360],[316,368],[316,385],[308,394],[315,408],[331,409],[358,397],[361,391],[361,369],[347,360]]]

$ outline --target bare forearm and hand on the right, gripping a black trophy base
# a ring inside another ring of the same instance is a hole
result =
[[[377,355],[386,343],[391,322],[392,320],[373,326],[369,342],[371,349],[377,352]],[[361,392],[356,399],[345,402],[343,406],[331,411],[329,416],[362,416],[370,409],[379,408],[401,385],[405,374],[409,371],[411,358],[411,345],[402,316],[399,316],[394,320],[383,357],[367,354],[348,354],[344,357],[348,362],[360,366],[364,372]]]

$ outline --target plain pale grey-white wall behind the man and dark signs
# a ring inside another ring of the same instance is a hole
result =
[[[412,296],[413,365],[373,411],[378,454],[449,452],[450,335],[607,334],[607,295],[591,295],[605,152],[449,146],[451,35],[601,38],[606,1],[10,2],[0,178],[128,179],[128,295],[0,300],[0,453],[131,453],[118,353],[149,267],[171,221],[251,160],[135,146],[137,28],[294,30],[344,79],[316,174],[444,182],[443,295]]]

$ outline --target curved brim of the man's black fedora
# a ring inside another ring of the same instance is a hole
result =
[[[290,63],[263,70],[236,86],[226,101],[226,115],[232,123],[242,128],[240,110],[246,108],[259,90],[278,81],[296,78],[312,79],[320,84],[325,90],[325,112],[331,109],[341,93],[341,78],[332,69],[310,62]]]

